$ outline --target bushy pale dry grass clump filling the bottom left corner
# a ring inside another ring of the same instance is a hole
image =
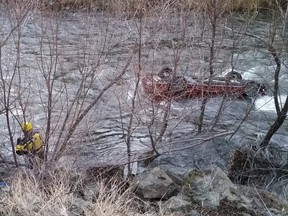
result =
[[[30,170],[22,170],[12,178],[10,196],[1,200],[4,215],[63,215],[69,206],[69,178],[66,173],[52,176],[49,184],[43,187],[40,180]]]

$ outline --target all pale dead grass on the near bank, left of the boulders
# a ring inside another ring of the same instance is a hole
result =
[[[75,184],[81,183],[80,177],[76,183],[74,181],[71,184],[71,172],[64,169],[50,171],[45,175],[35,175],[30,170],[19,171],[9,183],[10,195],[0,197],[0,205],[4,203],[0,215],[69,215],[72,204],[75,203]],[[99,182],[97,185],[99,196],[95,202],[86,201],[88,208],[85,215],[156,215],[139,214],[132,193],[129,190],[123,193],[116,183],[107,186]]]

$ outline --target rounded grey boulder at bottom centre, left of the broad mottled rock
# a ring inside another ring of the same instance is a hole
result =
[[[167,200],[179,192],[177,184],[159,167],[144,171],[136,180],[135,193],[145,199]]]

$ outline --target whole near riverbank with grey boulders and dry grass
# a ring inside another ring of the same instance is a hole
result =
[[[269,177],[268,171],[278,171],[282,175],[278,173],[277,178],[286,190],[285,167],[281,172],[273,161],[270,165],[274,167],[267,167],[263,155],[251,158],[244,154],[236,151],[227,171],[213,164],[189,167],[183,175],[168,167],[142,167],[128,179],[119,166],[93,167],[81,173],[63,168],[49,173],[18,169],[1,187],[1,215],[288,215],[283,191],[267,190],[269,185],[259,181]],[[276,174],[270,184],[277,182],[275,178]]]

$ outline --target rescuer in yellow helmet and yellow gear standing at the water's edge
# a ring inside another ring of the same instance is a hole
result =
[[[21,124],[24,138],[17,139],[16,154],[28,157],[28,168],[39,166],[44,161],[44,147],[40,134],[33,130],[31,122]]]

